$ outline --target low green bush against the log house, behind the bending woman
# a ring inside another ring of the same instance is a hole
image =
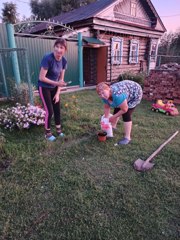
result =
[[[120,74],[117,81],[122,81],[122,80],[133,80],[141,85],[143,88],[144,85],[144,79],[146,77],[145,73],[133,73],[131,71],[124,72],[123,74]]]

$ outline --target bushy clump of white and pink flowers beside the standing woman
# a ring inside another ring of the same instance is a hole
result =
[[[0,111],[0,125],[5,129],[28,129],[31,125],[44,125],[45,111],[37,106],[19,103]]]

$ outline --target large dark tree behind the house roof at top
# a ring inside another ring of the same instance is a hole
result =
[[[31,0],[30,7],[35,17],[48,19],[73,9],[95,2],[96,0]]]

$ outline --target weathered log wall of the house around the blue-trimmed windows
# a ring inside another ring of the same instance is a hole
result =
[[[115,81],[120,74],[127,71],[133,73],[139,73],[141,71],[147,72],[148,70],[148,53],[150,47],[150,39],[145,37],[133,37],[128,35],[118,35],[123,39],[123,57],[122,63],[111,64],[111,38],[114,35],[101,34],[99,38],[108,45],[108,58],[107,58],[107,81]],[[117,37],[117,36],[116,36]],[[139,40],[139,60],[137,64],[129,63],[129,51],[130,51],[130,40]]]

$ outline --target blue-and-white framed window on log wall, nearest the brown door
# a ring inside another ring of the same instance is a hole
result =
[[[123,55],[123,39],[114,37],[111,44],[112,64],[121,64]]]

